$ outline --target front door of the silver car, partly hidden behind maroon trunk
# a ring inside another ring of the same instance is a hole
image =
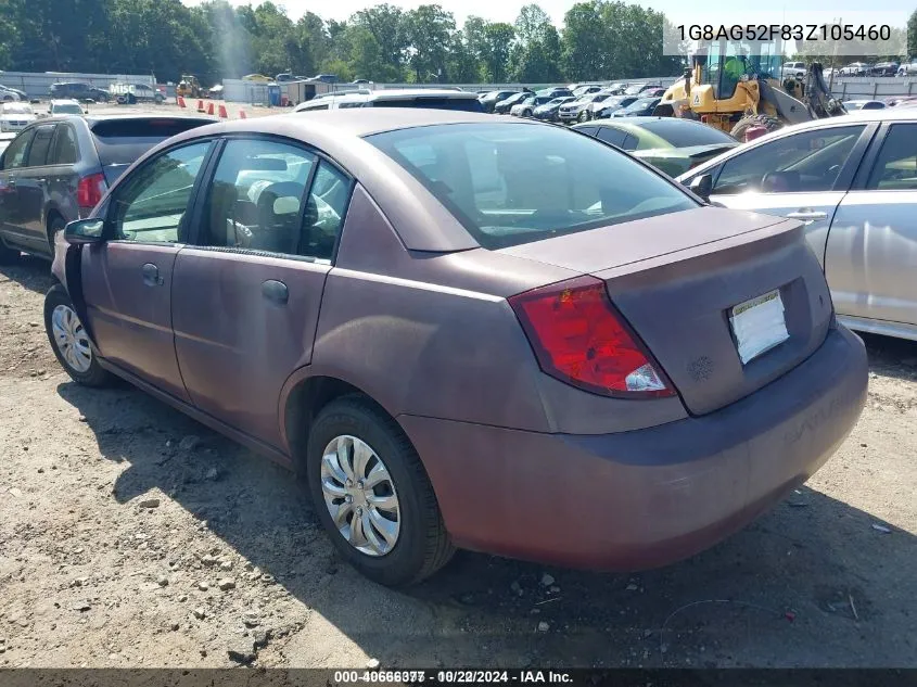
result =
[[[877,128],[839,124],[763,141],[712,170],[710,200],[801,220],[824,267],[831,219]]]

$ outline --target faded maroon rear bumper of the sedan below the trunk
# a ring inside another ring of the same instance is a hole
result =
[[[399,421],[458,546],[640,570],[709,548],[805,482],[856,423],[866,386],[863,343],[838,328],[751,396],[646,430],[565,435]]]

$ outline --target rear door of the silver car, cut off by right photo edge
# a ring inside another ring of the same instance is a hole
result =
[[[887,125],[877,139],[835,215],[825,272],[838,314],[882,332],[917,327],[917,124]]]

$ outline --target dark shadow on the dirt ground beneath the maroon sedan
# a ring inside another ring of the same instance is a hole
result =
[[[663,570],[597,574],[459,552],[433,580],[394,591],[336,558],[283,469],[139,391],[58,391],[101,453],[129,463],[119,502],[169,494],[386,666],[917,665],[915,537],[806,487]],[[178,450],[188,434],[202,446]],[[203,476],[211,468],[218,481]],[[284,649],[294,665],[295,643]]]

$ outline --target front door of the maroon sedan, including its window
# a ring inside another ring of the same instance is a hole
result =
[[[102,357],[184,402],[171,323],[173,269],[212,145],[170,148],[135,169],[107,201],[106,240],[85,246],[81,258],[87,318]]]

